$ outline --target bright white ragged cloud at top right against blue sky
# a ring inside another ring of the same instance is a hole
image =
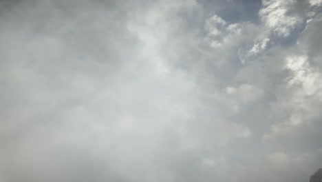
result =
[[[305,23],[312,21],[319,14],[319,3],[307,1],[262,1],[259,10],[259,33],[256,39],[239,49],[241,63],[258,59],[261,54],[274,46],[290,44],[297,40],[305,29]]]

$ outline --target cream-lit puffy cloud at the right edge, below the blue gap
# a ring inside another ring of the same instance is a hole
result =
[[[308,57],[288,57],[286,69],[290,71],[290,77],[286,78],[284,85],[285,94],[288,97],[279,99],[279,107],[290,110],[290,117],[282,123],[272,125],[271,134],[266,137],[278,136],[291,132],[303,122],[312,121],[319,117],[319,110],[316,110],[316,102],[321,102],[321,73],[308,63]],[[308,98],[314,101],[308,101]],[[312,99],[313,99],[312,98]]]

